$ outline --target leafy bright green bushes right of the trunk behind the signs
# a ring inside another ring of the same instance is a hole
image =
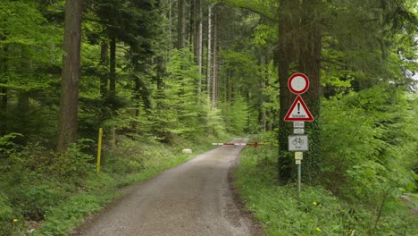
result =
[[[412,166],[405,164],[416,149],[411,146],[417,141],[416,111],[405,92],[377,86],[324,104],[322,173],[324,180],[331,180],[330,190],[375,202],[370,198],[374,194],[414,189]]]

